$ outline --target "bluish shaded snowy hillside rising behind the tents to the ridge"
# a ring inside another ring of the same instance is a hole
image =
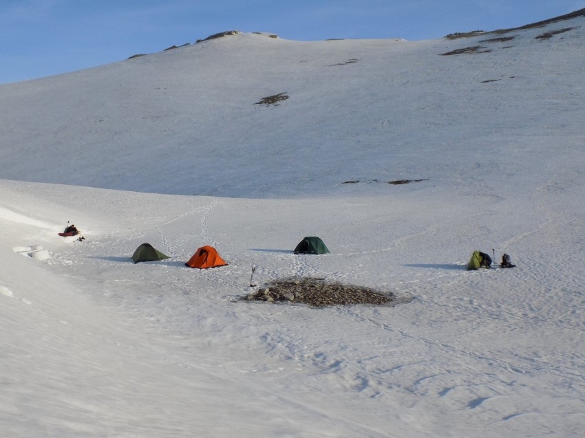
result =
[[[534,175],[543,149],[582,142],[583,21],[416,43],[237,34],[0,87],[0,171],[228,197],[332,193],[360,178],[469,184],[469,161],[485,178]]]

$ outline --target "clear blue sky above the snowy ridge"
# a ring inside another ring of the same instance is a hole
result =
[[[511,28],[585,0],[2,0],[0,84],[72,72],[223,32],[410,41]]]

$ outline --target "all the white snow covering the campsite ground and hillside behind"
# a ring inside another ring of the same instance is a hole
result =
[[[584,53],[237,34],[1,86],[2,435],[581,436]],[[253,266],[412,301],[244,302]]]

